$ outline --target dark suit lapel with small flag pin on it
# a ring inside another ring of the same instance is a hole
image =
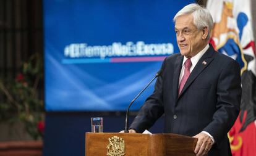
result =
[[[210,62],[213,60],[213,52],[215,51],[213,50],[213,47],[210,46],[207,52],[205,52],[201,59],[198,60],[197,65],[195,65],[195,68],[190,73],[189,78],[187,79],[179,97],[182,96],[182,94],[187,90],[187,88],[189,88],[190,84],[195,80],[195,78],[197,78],[197,76],[210,64]]]

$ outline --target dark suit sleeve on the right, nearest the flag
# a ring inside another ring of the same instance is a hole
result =
[[[216,112],[211,123],[203,129],[213,136],[217,144],[223,140],[239,115],[241,92],[240,67],[232,60],[221,70],[216,86]]]

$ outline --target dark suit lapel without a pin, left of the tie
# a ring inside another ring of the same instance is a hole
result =
[[[174,99],[177,100],[177,92],[179,87],[179,75],[181,73],[182,68],[182,62],[183,62],[183,56],[179,55],[176,59],[175,65],[174,65],[174,73],[173,73],[173,92],[174,92]]]

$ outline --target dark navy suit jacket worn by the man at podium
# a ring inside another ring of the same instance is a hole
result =
[[[227,133],[240,109],[239,64],[210,45],[178,97],[182,61],[181,54],[170,55],[164,60],[155,91],[143,104],[130,129],[142,133],[164,114],[164,133],[194,136],[207,131],[215,139],[208,155],[231,155]]]

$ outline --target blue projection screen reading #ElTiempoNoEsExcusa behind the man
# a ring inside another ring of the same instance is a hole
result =
[[[123,111],[179,51],[173,17],[192,1],[43,2],[46,111]]]

